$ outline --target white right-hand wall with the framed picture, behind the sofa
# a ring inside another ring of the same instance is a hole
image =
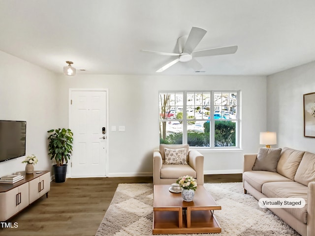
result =
[[[267,77],[267,127],[278,147],[315,152],[315,138],[304,137],[303,94],[315,92],[315,61]]]

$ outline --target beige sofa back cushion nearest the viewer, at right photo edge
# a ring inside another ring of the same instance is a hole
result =
[[[309,182],[315,181],[315,154],[305,152],[299,167],[297,168],[294,181],[302,183],[306,186]]]

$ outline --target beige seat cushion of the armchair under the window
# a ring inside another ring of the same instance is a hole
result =
[[[179,178],[189,175],[193,178],[197,177],[197,173],[189,165],[162,165],[160,171],[161,178]]]

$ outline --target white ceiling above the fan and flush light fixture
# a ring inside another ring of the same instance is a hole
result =
[[[140,50],[174,52],[193,26],[196,50],[238,51],[156,73],[175,58]],[[0,0],[0,50],[56,73],[269,75],[315,60],[315,0]]]

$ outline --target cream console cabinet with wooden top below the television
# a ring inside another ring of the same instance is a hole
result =
[[[24,174],[14,184],[0,184],[0,221],[6,221],[50,190],[50,172]]]

